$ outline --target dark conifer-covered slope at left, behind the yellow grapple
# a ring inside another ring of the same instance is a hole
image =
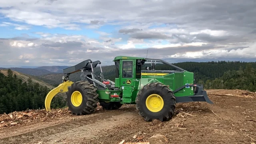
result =
[[[44,108],[44,100],[50,89],[32,81],[32,78],[27,82],[22,81],[10,69],[7,76],[0,72],[0,114]],[[51,104],[52,108],[63,106],[65,102],[60,97],[54,98]]]

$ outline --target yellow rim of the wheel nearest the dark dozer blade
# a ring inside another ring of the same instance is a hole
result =
[[[146,106],[151,112],[159,112],[164,107],[164,100],[158,94],[151,94],[146,99]]]

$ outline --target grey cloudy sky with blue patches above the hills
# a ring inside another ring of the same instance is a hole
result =
[[[0,67],[256,61],[255,0],[1,0]]]

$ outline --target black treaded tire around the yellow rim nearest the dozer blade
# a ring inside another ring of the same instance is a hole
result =
[[[151,94],[158,94],[164,101],[164,106],[159,112],[152,112],[146,106],[146,99]],[[172,90],[159,82],[144,85],[136,97],[136,109],[146,121],[152,121],[153,119],[160,120],[161,122],[170,120],[175,107],[176,98]]]

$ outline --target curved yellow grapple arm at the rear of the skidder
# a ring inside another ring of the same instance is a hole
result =
[[[66,82],[63,82],[62,84],[60,84],[59,86],[57,86],[56,88],[52,89],[46,96],[45,101],[44,101],[44,106],[46,108],[47,111],[51,111],[50,110],[50,106],[51,106],[51,102],[52,102],[52,98],[54,96],[56,96],[56,94],[58,94],[59,92],[67,92],[68,91],[68,87],[71,86],[71,84],[73,84],[74,82],[68,80]]]

